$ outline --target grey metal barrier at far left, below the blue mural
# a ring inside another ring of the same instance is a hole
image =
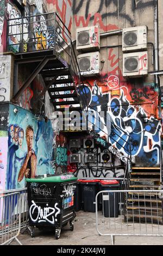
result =
[[[0,244],[17,239],[22,228],[28,225],[27,188],[0,192]]]

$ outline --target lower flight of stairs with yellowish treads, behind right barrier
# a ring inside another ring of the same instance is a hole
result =
[[[132,167],[128,179],[128,188],[131,192],[126,194],[125,200],[127,202],[125,218],[162,223],[162,198],[159,197],[159,192],[146,192],[159,190],[160,185],[159,167]],[[143,190],[143,192],[136,190]]]

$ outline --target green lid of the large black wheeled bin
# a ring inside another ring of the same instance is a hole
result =
[[[30,178],[26,179],[27,182],[67,182],[77,180],[73,174],[60,174],[60,175],[53,175],[49,177],[39,177],[39,178]]]

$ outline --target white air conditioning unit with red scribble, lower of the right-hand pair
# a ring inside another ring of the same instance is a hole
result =
[[[141,77],[148,75],[148,52],[123,54],[123,77]]]

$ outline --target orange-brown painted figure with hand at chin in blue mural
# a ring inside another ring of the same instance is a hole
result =
[[[20,182],[24,176],[26,178],[35,177],[37,157],[32,148],[33,140],[34,140],[34,130],[31,125],[28,125],[26,129],[26,141],[27,141],[28,152],[26,155],[26,159],[23,163],[23,166],[21,167],[20,172],[18,173],[18,180],[17,180],[18,182]]]

